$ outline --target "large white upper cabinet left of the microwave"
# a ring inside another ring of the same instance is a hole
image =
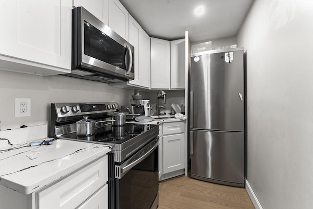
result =
[[[0,69],[69,73],[71,8],[71,0],[0,0]]]

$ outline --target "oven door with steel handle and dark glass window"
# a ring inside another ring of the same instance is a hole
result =
[[[138,151],[137,157],[115,165],[116,209],[156,209],[158,206],[158,140]]]

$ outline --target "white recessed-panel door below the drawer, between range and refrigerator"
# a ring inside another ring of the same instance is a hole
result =
[[[185,168],[184,134],[163,136],[163,173]]]

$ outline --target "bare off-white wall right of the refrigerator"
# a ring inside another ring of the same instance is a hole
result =
[[[264,209],[313,207],[313,1],[256,0],[247,51],[247,181]]]

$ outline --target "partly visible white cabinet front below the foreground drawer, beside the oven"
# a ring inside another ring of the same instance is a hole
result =
[[[108,185],[103,186],[77,209],[108,209]]]

